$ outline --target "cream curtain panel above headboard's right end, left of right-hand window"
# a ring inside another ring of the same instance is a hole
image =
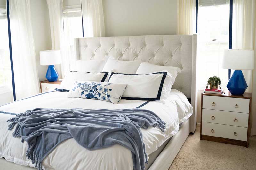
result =
[[[177,0],[177,34],[196,33],[196,0]]]

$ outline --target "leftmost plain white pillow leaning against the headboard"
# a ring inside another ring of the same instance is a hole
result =
[[[76,71],[99,73],[102,71],[104,65],[105,65],[105,60],[88,60],[88,61],[77,60]]]

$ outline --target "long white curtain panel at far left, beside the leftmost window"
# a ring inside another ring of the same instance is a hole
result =
[[[30,17],[30,0],[9,0],[16,99],[40,92]]]

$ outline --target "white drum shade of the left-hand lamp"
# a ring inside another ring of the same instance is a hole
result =
[[[41,65],[56,65],[61,63],[60,50],[40,51]]]

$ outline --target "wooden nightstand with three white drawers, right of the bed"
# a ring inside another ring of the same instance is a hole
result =
[[[249,146],[252,93],[202,93],[200,140]]]

